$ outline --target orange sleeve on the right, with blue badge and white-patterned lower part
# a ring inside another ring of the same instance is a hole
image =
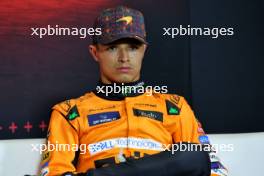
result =
[[[210,145],[209,138],[205,134],[201,123],[196,119],[187,101],[181,97],[179,101],[179,118],[176,131],[173,133],[174,142],[191,142]],[[227,169],[223,166],[216,152],[210,148],[211,176],[226,176]]]

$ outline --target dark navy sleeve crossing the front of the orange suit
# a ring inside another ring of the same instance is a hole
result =
[[[186,167],[186,164],[188,166]],[[89,176],[209,176],[209,157],[206,151],[163,151],[139,159],[88,170]]]

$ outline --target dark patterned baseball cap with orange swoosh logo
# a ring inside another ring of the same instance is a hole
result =
[[[143,14],[126,6],[103,10],[95,19],[94,28],[101,35],[93,35],[93,43],[108,44],[122,38],[134,38],[147,44]]]

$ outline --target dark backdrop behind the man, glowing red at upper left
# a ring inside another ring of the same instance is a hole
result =
[[[0,139],[44,137],[50,108],[92,90],[98,80],[89,37],[39,39],[30,35],[30,27],[92,27],[99,11],[119,4],[145,15],[150,45],[142,77],[148,84],[167,85],[170,93],[185,96],[208,133],[264,131],[263,1],[4,0]],[[217,39],[162,35],[163,27],[180,24],[233,27],[235,34]]]

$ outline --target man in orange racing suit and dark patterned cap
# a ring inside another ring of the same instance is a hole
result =
[[[210,165],[205,155],[163,152],[176,143],[209,141],[183,97],[151,90],[140,80],[147,48],[143,15],[124,6],[106,9],[95,28],[102,35],[93,37],[89,49],[99,64],[100,82],[93,92],[53,107],[47,144],[71,148],[47,150],[41,174],[206,175],[199,165]],[[211,174],[225,175],[214,159]]]

